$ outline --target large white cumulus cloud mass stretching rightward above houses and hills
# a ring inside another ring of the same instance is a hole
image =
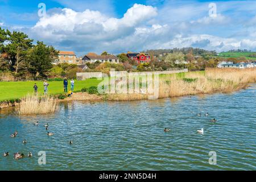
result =
[[[226,30],[226,26],[236,25],[234,20],[220,13],[211,18],[207,16],[208,6],[195,6],[164,6],[159,10],[135,4],[122,18],[89,9],[52,9],[28,30],[28,34],[57,49],[75,51],[77,55],[92,51],[120,53],[175,47],[199,47],[218,52],[256,48],[256,40],[249,39],[254,31],[245,39],[241,38],[239,31],[222,35],[220,27]]]

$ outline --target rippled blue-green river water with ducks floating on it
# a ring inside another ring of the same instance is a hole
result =
[[[0,156],[0,170],[255,170],[255,109],[254,84],[230,94],[72,102],[37,117],[2,112],[0,152],[10,156]],[[200,112],[209,116],[197,117]],[[196,133],[201,128],[204,135]],[[14,131],[18,136],[11,138]],[[17,151],[33,156],[14,160]],[[46,152],[45,165],[38,163],[39,151]],[[216,152],[216,165],[209,163],[210,151]]]

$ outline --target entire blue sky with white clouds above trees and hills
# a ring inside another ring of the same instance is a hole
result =
[[[255,25],[256,1],[0,0],[0,27],[77,56],[175,47],[256,51]]]

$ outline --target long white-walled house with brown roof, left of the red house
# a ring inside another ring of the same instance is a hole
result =
[[[114,55],[100,56],[96,55],[96,53],[88,53],[82,58],[83,64],[86,62],[95,63],[96,61],[100,61],[101,63],[119,63],[118,57]]]

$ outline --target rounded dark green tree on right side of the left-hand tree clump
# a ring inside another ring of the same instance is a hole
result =
[[[52,68],[52,63],[57,59],[58,53],[55,48],[46,46],[43,42],[38,42],[35,47],[28,51],[28,70],[34,78],[46,77],[46,73]]]

